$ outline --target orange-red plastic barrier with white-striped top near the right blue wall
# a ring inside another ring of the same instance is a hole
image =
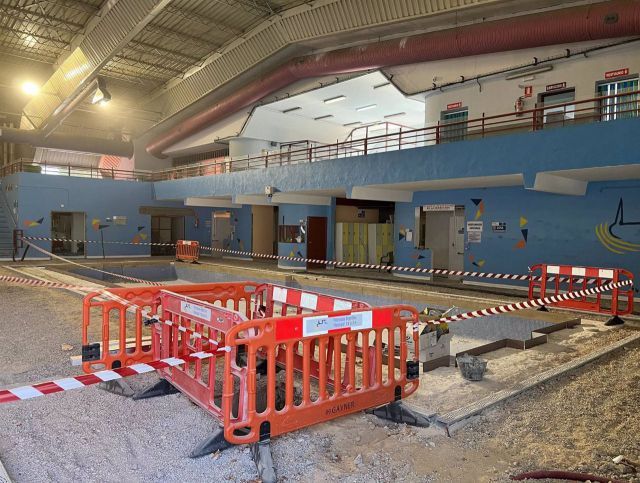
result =
[[[530,271],[529,299],[600,287],[612,282],[633,280],[633,274],[621,268],[539,264],[531,267]],[[603,294],[598,293],[575,300],[558,302],[554,305],[604,315],[630,314],[633,312],[633,285],[628,288],[613,289],[610,304],[603,303],[603,301]]]

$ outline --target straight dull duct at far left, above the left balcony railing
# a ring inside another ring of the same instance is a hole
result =
[[[64,149],[84,153],[109,154],[131,158],[133,143],[110,139],[89,138],[69,134],[51,134],[45,136],[42,131],[33,129],[0,128],[0,142],[29,144],[37,148]]]

